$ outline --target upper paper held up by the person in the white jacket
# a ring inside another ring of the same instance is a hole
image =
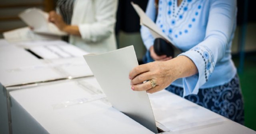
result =
[[[36,33],[48,35],[67,35],[60,31],[56,25],[48,21],[49,14],[39,8],[28,8],[18,15],[28,26],[33,27]]]

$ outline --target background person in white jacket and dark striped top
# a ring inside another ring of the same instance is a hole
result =
[[[117,0],[58,0],[49,21],[69,35],[68,42],[89,53],[117,49]]]

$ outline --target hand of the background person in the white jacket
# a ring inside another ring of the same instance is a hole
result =
[[[54,23],[61,31],[68,26],[64,21],[61,15],[57,14],[55,11],[49,12],[49,19],[50,22]]]

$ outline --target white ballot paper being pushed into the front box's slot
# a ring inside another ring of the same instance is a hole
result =
[[[158,133],[147,92],[131,90],[129,72],[138,66],[134,47],[84,55],[84,58],[111,105]]]

